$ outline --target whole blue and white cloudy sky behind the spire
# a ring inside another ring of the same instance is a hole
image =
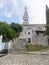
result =
[[[23,23],[24,8],[27,6],[29,23],[45,24],[45,5],[49,0],[0,0],[0,21]]]

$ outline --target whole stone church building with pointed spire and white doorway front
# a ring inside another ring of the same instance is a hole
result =
[[[29,16],[27,8],[23,15],[23,31],[20,34],[19,39],[25,39],[27,44],[32,45],[48,45],[47,36],[44,36],[46,24],[29,24]]]

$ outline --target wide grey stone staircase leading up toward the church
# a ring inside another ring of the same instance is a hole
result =
[[[17,43],[13,46],[12,49],[8,50],[8,53],[26,53],[27,52],[27,48],[26,48],[26,42],[24,42],[23,40],[19,40],[17,41]]]

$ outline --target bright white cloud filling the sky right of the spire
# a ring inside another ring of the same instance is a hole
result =
[[[21,0],[28,8],[30,23],[45,23],[45,0]]]

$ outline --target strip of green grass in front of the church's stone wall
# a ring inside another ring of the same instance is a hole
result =
[[[42,46],[42,45],[28,45],[28,51],[41,51],[48,49],[48,46]]]

